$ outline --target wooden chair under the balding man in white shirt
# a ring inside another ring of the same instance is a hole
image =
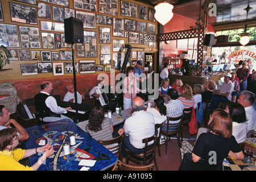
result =
[[[126,148],[126,164],[129,164],[129,160],[136,164],[148,165],[154,160],[156,171],[158,171],[158,165],[155,158],[155,145],[157,139],[157,131],[152,137],[142,139],[142,142],[145,143],[144,153],[142,154],[132,154]],[[148,144],[151,141],[154,141],[152,144]]]

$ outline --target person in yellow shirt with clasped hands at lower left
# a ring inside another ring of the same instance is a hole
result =
[[[54,150],[50,144],[45,146],[22,150],[16,148],[19,144],[17,131],[14,128],[7,128],[0,131],[0,170],[1,171],[36,171],[48,158],[53,155]],[[44,151],[42,157],[31,167],[23,166],[19,160],[27,158],[38,152]]]

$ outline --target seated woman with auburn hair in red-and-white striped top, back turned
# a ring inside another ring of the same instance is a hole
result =
[[[188,84],[183,86],[182,96],[178,98],[184,106],[184,109],[193,107],[195,105],[195,100],[192,97],[192,88]]]

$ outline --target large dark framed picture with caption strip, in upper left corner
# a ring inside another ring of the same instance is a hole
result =
[[[34,6],[10,2],[11,21],[27,24],[38,24],[37,11]]]

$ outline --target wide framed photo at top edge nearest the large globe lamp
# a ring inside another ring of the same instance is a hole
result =
[[[137,18],[138,5],[135,3],[121,1],[121,15]]]

